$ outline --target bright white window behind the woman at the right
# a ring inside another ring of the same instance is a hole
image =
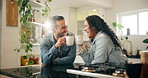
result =
[[[119,14],[119,23],[124,26],[123,35],[147,35],[148,10]]]

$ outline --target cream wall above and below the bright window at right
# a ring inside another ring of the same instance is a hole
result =
[[[117,14],[128,11],[135,11],[148,8],[148,0],[114,0],[113,8],[106,9],[106,21],[110,27],[115,31],[115,28],[111,25],[112,22],[116,21]],[[146,44],[142,43],[142,40],[148,38],[147,36],[129,36],[129,40],[133,44],[134,54],[136,49],[145,49]]]

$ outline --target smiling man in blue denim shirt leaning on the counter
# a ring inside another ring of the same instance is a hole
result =
[[[47,34],[41,41],[41,59],[43,65],[73,64],[76,57],[76,45],[67,46],[65,37],[67,26],[63,16],[51,18],[53,33]]]

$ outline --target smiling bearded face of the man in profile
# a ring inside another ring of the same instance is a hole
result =
[[[67,30],[67,26],[65,24],[64,20],[56,21],[57,27],[55,28],[55,34],[57,34],[58,37],[63,37]]]

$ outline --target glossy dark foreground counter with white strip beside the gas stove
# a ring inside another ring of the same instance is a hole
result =
[[[102,73],[83,72],[78,70],[79,64],[60,66],[32,66],[1,69],[0,74],[14,78],[110,78],[114,77]],[[40,73],[41,72],[41,73]]]

